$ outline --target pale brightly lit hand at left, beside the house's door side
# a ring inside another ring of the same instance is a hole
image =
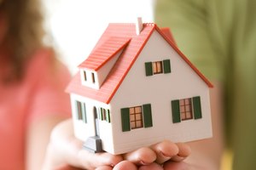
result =
[[[122,156],[107,152],[92,154],[82,149],[83,142],[73,135],[72,119],[59,123],[51,133],[44,161],[44,170],[96,169],[113,167]]]

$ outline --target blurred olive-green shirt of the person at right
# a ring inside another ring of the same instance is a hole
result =
[[[256,1],[157,0],[156,23],[212,82],[224,84],[234,169],[256,168]]]

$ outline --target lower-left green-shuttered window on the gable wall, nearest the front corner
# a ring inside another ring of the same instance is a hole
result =
[[[151,105],[138,105],[121,109],[122,130],[153,127]]]

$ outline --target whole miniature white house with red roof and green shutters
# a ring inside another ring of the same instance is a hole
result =
[[[211,82],[155,24],[109,24],[67,86],[75,136],[121,154],[212,137]]]

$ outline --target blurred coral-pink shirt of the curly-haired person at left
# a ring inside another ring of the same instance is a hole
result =
[[[28,123],[49,114],[70,116],[70,100],[64,92],[70,80],[64,65],[53,69],[49,50],[39,50],[28,65],[24,79],[0,83],[0,169],[25,169],[25,137]],[[0,67],[1,72],[1,67]]]

